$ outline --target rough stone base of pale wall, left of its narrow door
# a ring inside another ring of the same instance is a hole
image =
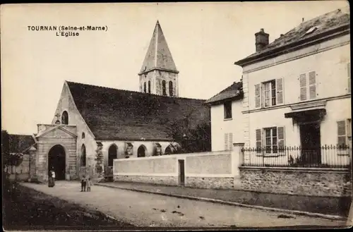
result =
[[[114,181],[152,183],[159,185],[178,185],[177,176],[124,176],[115,175]]]

